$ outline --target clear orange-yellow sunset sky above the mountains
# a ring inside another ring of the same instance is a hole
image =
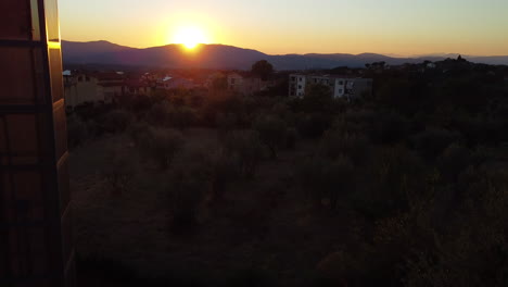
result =
[[[508,0],[60,0],[62,38],[130,47],[175,41],[266,53],[508,54]]]

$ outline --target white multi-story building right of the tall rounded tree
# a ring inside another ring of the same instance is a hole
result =
[[[352,99],[365,93],[372,92],[371,78],[353,78],[330,75],[306,75],[291,74],[289,96],[304,97],[306,88],[310,85],[323,85],[330,87],[330,92],[333,98],[347,97]]]

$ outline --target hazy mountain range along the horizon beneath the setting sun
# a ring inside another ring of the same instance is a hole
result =
[[[200,45],[187,50],[181,45],[153,48],[130,48],[109,41],[62,41],[64,65],[116,65],[131,67],[166,68],[225,68],[250,70],[259,60],[267,60],[276,70],[333,68],[338,66],[363,67],[367,63],[384,61],[390,65],[440,61],[456,54],[431,54],[412,58],[395,58],[376,53],[308,53],[270,55],[256,50],[225,45]],[[469,57],[475,63],[508,65],[508,55]]]

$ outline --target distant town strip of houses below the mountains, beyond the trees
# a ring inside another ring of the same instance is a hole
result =
[[[63,72],[67,110],[84,104],[113,103],[123,95],[151,97],[161,92],[192,90],[205,95],[211,89],[224,89],[240,96],[254,96],[287,87],[285,96],[304,97],[305,88],[323,85],[333,98],[360,97],[372,92],[372,79],[363,77],[361,70],[342,71],[345,75],[315,72],[281,72],[262,78],[245,71],[119,72],[66,70]],[[283,95],[278,95],[283,96]]]

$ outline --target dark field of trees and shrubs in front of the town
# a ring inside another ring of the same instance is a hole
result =
[[[322,86],[285,99],[217,85],[202,100],[179,90],[77,111],[81,276],[506,286],[508,86],[495,67],[437,66],[447,74],[372,71],[378,91],[351,102]]]

